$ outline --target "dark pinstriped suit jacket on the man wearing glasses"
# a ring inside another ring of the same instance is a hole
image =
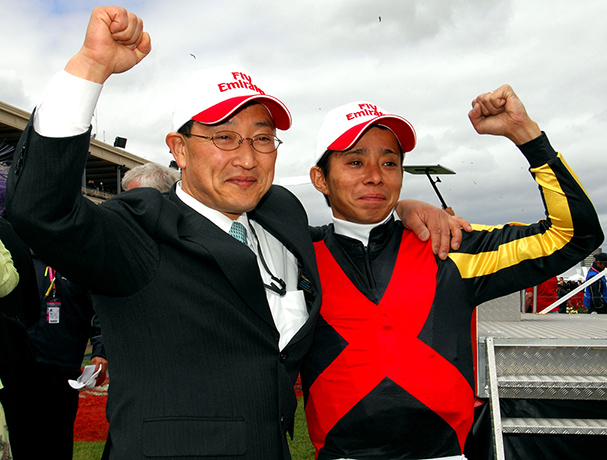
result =
[[[272,187],[249,213],[297,257],[310,319],[281,352],[257,261],[174,189],[94,205],[80,194],[89,133],[24,131],[7,209],[22,238],[90,287],[110,365],[112,458],[289,458],[293,391],[320,304],[305,211]]]

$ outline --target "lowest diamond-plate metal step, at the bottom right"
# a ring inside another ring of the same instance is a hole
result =
[[[607,435],[607,420],[561,418],[504,418],[504,433]]]

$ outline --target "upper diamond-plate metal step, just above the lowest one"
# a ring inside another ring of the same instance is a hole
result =
[[[513,399],[606,399],[607,376],[596,375],[506,375],[499,376],[502,398]]]

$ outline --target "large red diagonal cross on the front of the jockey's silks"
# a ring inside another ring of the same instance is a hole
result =
[[[436,291],[429,244],[404,232],[379,305],[356,289],[324,242],[314,246],[323,290],[320,314],[348,343],[310,387],[306,416],[316,452],[335,424],[386,377],[442,417],[463,451],[473,390],[456,367],[417,338]]]

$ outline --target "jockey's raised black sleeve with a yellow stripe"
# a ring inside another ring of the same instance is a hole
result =
[[[598,215],[575,173],[542,134],[520,146],[540,190],[545,218],[533,224],[473,225],[449,254],[476,305],[538,285],[603,241]]]

